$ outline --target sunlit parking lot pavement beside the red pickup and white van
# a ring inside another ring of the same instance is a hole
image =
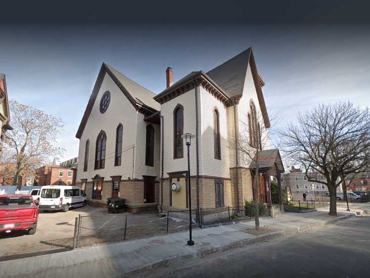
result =
[[[35,234],[25,234],[22,231],[0,233],[0,260],[6,256],[26,253],[39,253],[64,249],[56,245],[61,239],[71,238],[74,233],[74,221],[78,214],[96,215],[105,214],[104,208],[70,209],[68,212],[44,212],[38,215],[37,231]]]

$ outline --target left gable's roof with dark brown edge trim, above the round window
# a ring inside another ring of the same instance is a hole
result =
[[[127,99],[130,101],[135,109],[143,107],[146,110],[154,113],[161,108],[160,104],[153,99],[153,97],[155,96],[153,92],[149,91],[141,85],[138,85],[136,82],[132,81],[130,78],[123,75],[113,67],[103,63],[76,133],[76,138],[78,139],[80,139],[82,136],[88,117],[91,113],[92,106],[94,106],[100,87],[102,86],[105,73],[107,73],[112,78],[114,83],[127,97]]]

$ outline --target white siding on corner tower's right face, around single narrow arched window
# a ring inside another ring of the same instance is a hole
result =
[[[220,118],[221,160],[214,158],[213,110],[217,107]],[[200,142],[202,175],[228,178],[229,149],[227,144],[226,107],[201,87],[200,90]]]

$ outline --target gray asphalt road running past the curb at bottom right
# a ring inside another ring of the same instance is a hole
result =
[[[174,263],[138,277],[370,277],[370,218]]]

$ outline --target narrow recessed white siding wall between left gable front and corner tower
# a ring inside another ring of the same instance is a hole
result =
[[[134,176],[142,179],[143,175],[156,176],[159,178],[160,169],[160,140],[161,130],[160,126],[151,124],[154,128],[154,166],[145,165],[145,150],[147,141],[147,125],[149,123],[144,121],[142,113],[137,114],[137,137],[136,137],[136,157],[135,157],[135,172]]]

